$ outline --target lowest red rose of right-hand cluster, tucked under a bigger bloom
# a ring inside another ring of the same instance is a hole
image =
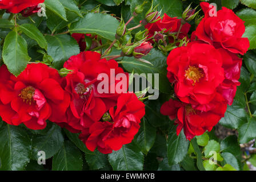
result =
[[[202,135],[206,130],[211,131],[219,120],[224,117],[227,105],[222,102],[219,94],[214,98],[215,107],[210,111],[199,111],[190,104],[169,100],[161,107],[161,114],[169,115],[170,119],[177,118],[175,124],[177,135],[183,129],[187,139],[191,140],[195,135]]]

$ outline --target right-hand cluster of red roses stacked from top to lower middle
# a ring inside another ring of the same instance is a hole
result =
[[[180,101],[170,100],[161,107],[163,115],[176,119],[177,134],[186,138],[211,131],[234,100],[242,59],[249,40],[242,38],[245,26],[233,11],[223,7],[209,15],[209,3],[201,3],[205,18],[193,32],[193,41],[178,47],[167,57],[167,77]]]

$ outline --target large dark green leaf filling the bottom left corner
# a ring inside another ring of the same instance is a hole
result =
[[[0,128],[1,171],[23,170],[29,163],[31,140],[26,131],[8,124]]]

